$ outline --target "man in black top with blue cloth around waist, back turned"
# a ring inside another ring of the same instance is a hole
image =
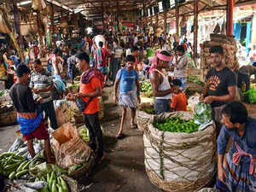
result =
[[[18,80],[11,87],[9,95],[17,111],[17,121],[20,124],[23,139],[27,141],[27,149],[33,158],[35,156],[33,139],[44,139],[47,162],[53,163],[54,161],[50,158],[49,133],[44,124],[43,113],[38,113],[37,104],[42,102],[42,98],[38,97],[37,101],[34,101],[32,90],[28,87],[27,79],[30,69],[26,65],[19,65],[16,74]]]

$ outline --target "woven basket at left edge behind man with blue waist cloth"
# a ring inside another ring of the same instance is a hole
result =
[[[0,126],[14,125],[17,123],[17,112],[14,107],[0,109]]]

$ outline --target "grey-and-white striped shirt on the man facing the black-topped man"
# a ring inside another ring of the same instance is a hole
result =
[[[30,87],[41,90],[49,87],[53,84],[53,76],[47,73],[44,69],[42,73],[33,72],[30,80]],[[50,90],[39,94],[34,94],[35,97],[42,97],[43,102],[49,102],[52,100]]]

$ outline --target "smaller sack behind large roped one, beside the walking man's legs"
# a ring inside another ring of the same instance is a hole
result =
[[[152,110],[150,113],[149,110]],[[138,106],[137,110],[137,127],[140,131],[148,129],[148,121],[154,115],[154,104],[152,102],[143,102]]]

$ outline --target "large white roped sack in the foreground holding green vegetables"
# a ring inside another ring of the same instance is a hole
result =
[[[144,131],[146,172],[151,183],[172,192],[192,192],[204,188],[215,174],[213,157],[216,132],[212,125],[192,133],[160,131],[154,123],[165,119],[192,119],[192,113],[154,115]]]

